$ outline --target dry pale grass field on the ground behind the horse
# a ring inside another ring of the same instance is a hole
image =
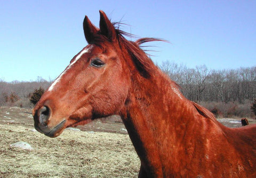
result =
[[[0,177],[138,177],[140,161],[119,118],[65,130],[51,139],[35,132],[30,109],[0,108]],[[230,127],[239,120],[220,119]],[[23,141],[33,150],[10,147]]]

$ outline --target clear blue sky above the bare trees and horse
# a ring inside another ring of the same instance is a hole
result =
[[[88,3],[90,2],[90,3]],[[99,10],[151,43],[153,61],[195,68],[256,66],[256,1],[4,1],[0,0],[0,79],[53,80],[87,45],[84,15],[99,25]],[[132,39],[135,40],[135,39]]]

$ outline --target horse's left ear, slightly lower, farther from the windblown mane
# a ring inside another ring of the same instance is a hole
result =
[[[92,25],[92,22],[85,15],[84,22],[84,36],[88,44],[92,44],[94,42],[95,35],[97,34],[98,28]]]

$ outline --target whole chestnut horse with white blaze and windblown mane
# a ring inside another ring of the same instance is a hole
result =
[[[256,177],[256,126],[228,128],[186,99],[103,11],[85,16],[87,45],[43,94],[35,128],[56,137],[66,127],[120,115],[141,161],[139,177]]]

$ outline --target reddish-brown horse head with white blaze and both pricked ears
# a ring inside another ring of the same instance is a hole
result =
[[[117,114],[129,93],[129,68],[117,30],[100,11],[100,28],[85,16],[88,45],[70,61],[33,109],[37,131],[55,137],[66,127]]]

